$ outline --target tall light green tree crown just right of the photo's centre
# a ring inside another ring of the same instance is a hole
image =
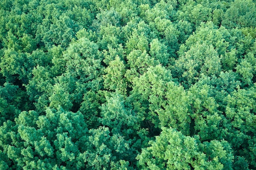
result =
[[[161,65],[151,66],[143,75],[133,79],[129,100],[136,112],[144,114],[151,131],[160,126],[156,110],[162,106],[166,91],[164,89],[171,80],[171,73]]]

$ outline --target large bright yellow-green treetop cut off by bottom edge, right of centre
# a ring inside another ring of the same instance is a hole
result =
[[[155,141],[149,144],[151,146],[143,148],[136,157],[140,169],[232,169],[234,156],[226,141],[201,143],[198,137],[184,136],[174,129],[163,128]]]

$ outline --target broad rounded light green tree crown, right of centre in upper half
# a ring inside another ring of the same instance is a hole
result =
[[[218,76],[221,71],[220,58],[212,45],[195,44],[190,50],[182,54],[173,66],[175,77],[186,87],[194,84],[204,75]]]

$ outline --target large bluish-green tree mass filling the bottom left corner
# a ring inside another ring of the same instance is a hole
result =
[[[12,162],[10,168],[48,169],[65,165],[72,169],[84,166],[79,167],[76,159],[84,146],[81,140],[88,132],[80,112],[47,109],[45,116],[39,116],[35,111],[23,111],[15,122],[16,125],[8,122],[1,126],[1,132],[5,132],[1,133],[1,147]]]

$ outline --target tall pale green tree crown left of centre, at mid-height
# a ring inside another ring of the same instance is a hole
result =
[[[65,52],[65,73],[57,78],[64,81],[72,100],[80,102],[87,90],[97,91],[102,87],[103,66],[97,44],[83,37],[72,43]]]

